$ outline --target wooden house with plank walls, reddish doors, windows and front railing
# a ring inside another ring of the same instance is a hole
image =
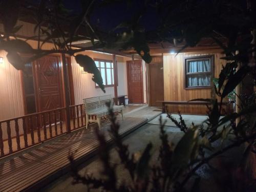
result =
[[[19,21],[18,25],[23,25],[17,32],[18,38],[33,36],[33,24]],[[0,33],[3,31],[0,24]],[[27,42],[37,47],[37,41]],[[84,44],[86,42],[79,46]],[[150,45],[151,63],[145,63],[134,50],[118,54],[111,50],[79,54],[95,60],[106,94],[127,95],[129,103],[161,106],[159,101],[164,100],[214,98],[212,78],[218,77],[225,65],[221,49],[209,39],[177,54],[181,46],[165,45],[163,49]],[[42,48],[50,50],[53,44],[46,42]],[[73,56],[66,56],[68,74],[65,76],[61,55],[42,57],[27,63],[25,71],[18,71],[8,62],[6,54],[0,51],[3,58],[0,63],[0,157],[85,125],[82,98],[104,93],[91,80],[92,74],[84,72]],[[65,94],[65,78],[69,95]],[[204,104],[175,104],[168,106],[168,110],[205,114],[207,108]]]

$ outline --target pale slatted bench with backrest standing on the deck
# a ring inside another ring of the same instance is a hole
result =
[[[112,95],[103,95],[97,97],[90,97],[82,99],[84,104],[84,110],[86,112],[86,129],[88,127],[89,122],[97,122],[99,128],[101,127],[101,118],[105,115],[109,115],[108,106],[106,106],[107,102],[110,102],[113,106],[113,112],[120,112],[123,120],[123,105],[114,105],[114,97]],[[89,119],[89,115],[96,116],[95,119]]]

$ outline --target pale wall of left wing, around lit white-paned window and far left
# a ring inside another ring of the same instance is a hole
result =
[[[37,47],[37,41],[28,40],[29,44]],[[43,49],[50,50],[52,44],[46,43]],[[95,53],[91,51],[82,52],[92,58],[101,58],[112,60],[111,54]],[[4,62],[0,63],[0,120],[10,119],[18,116],[23,116],[24,101],[22,92],[21,72],[16,70],[6,58],[7,52],[0,51],[0,57],[4,58]],[[104,94],[99,88],[95,88],[91,74],[82,74],[82,68],[76,63],[75,58],[71,57],[72,73],[74,79],[75,104],[82,103],[82,98],[92,97]],[[117,56],[118,62],[118,94],[127,94],[126,81],[126,62],[123,57]],[[114,95],[114,87],[105,88],[107,94]]]

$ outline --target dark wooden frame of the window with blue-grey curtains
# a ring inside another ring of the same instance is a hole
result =
[[[193,74],[210,74],[210,85],[209,86],[187,86],[187,63],[188,61],[193,61],[193,60],[202,60],[202,59],[207,59],[210,61],[210,71],[209,72],[196,72]],[[211,89],[213,82],[212,79],[214,78],[214,55],[201,55],[201,56],[194,56],[194,57],[185,57],[184,58],[184,89]]]

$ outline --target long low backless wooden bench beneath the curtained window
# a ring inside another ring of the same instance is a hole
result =
[[[170,105],[200,105],[200,104],[205,104],[205,105],[211,105],[211,102],[206,102],[206,101],[157,101],[162,103],[162,112],[166,113],[167,112],[167,104]],[[230,111],[230,104],[233,103],[231,102],[222,102],[223,105],[227,106],[227,111]],[[220,105],[220,102],[218,102]]]

